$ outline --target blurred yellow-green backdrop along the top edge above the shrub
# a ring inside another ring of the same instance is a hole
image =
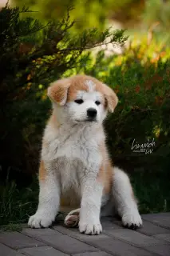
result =
[[[153,30],[156,37],[169,43],[170,2],[168,0],[11,0],[18,6],[30,6],[38,11],[37,18],[62,18],[68,6],[74,9],[70,17],[76,21],[73,30],[106,26],[121,26],[128,34],[144,34]],[[131,32],[131,33],[130,33]]]

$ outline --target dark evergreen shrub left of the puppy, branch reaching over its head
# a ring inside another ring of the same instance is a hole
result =
[[[29,177],[38,170],[42,130],[50,110],[45,94],[49,83],[77,66],[84,50],[106,40],[125,41],[123,30],[99,33],[92,29],[70,35],[74,22],[69,11],[62,20],[42,25],[30,18],[26,8],[6,6],[0,10],[1,180],[9,173],[25,186],[30,182],[26,174]]]

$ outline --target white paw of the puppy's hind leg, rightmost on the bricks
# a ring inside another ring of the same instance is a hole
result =
[[[125,227],[128,227],[132,230],[136,230],[137,228],[142,226],[142,219],[138,211],[124,214],[122,217],[122,222]]]

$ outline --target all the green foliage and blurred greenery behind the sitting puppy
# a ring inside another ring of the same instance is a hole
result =
[[[34,213],[51,107],[46,88],[80,73],[118,95],[105,122],[107,143],[132,179],[140,211],[170,210],[170,2],[10,0],[10,6],[0,10],[0,225]],[[134,138],[154,138],[152,154],[133,152]]]

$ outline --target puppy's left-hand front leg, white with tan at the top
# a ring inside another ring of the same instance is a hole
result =
[[[59,208],[60,189],[51,166],[41,163],[39,171],[39,203],[36,214],[30,217],[28,225],[32,228],[48,227],[54,221]]]

